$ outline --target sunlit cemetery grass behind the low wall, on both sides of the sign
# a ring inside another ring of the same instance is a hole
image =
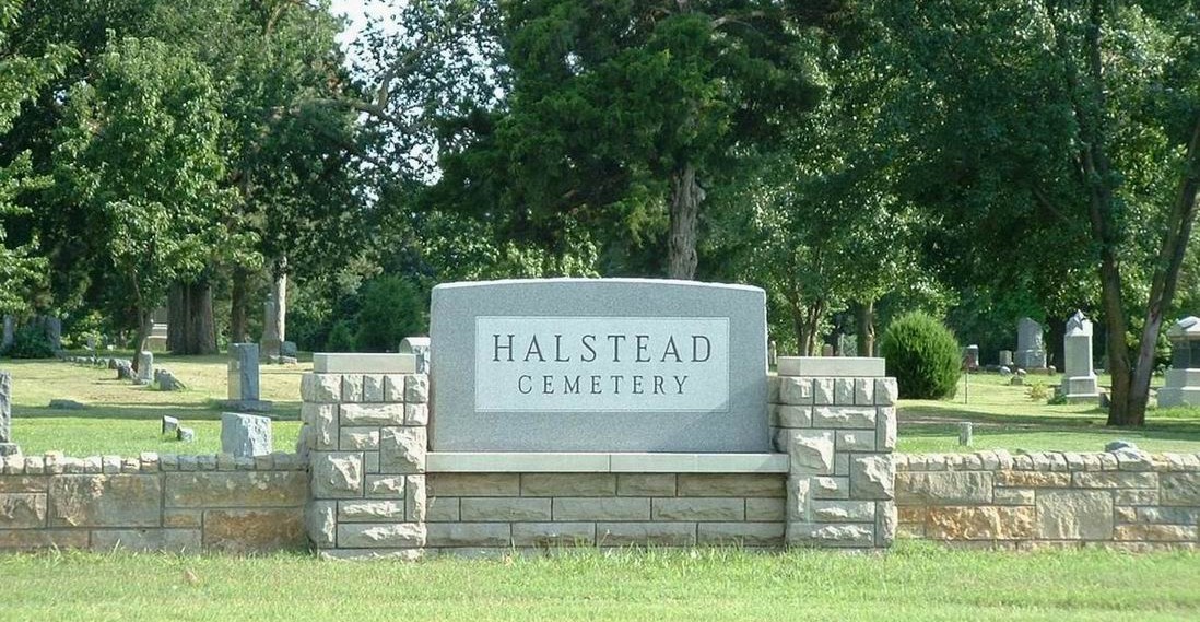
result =
[[[127,355],[128,353],[126,353]],[[300,421],[299,365],[263,365],[262,396],[274,402],[270,417],[276,450],[295,447]],[[52,360],[5,360],[13,373],[13,436],[26,454],[60,450],[72,456],[142,451],[212,454],[221,448],[221,407],[226,399],[226,357],[156,355],[155,365],[175,373],[187,389],[158,391],[114,379],[107,369]],[[1100,451],[1115,439],[1134,442],[1147,451],[1200,450],[1200,408],[1151,409],[1144,429],[1105,427],[1096,405],[1048,405],[1031,399],[1031,388],[1050,385],[1061,376],[1028,376],[1025,385],[1009,385],[995,373],[971,375],[970,388],[959,381],[952,400],[901,400],[898,451],[964,451],[958,444],[959,421],[972,421],[972,449]],[[1162,381],[1158,379],[1158,383]],[[1100,385],[1108,377],[1100,376]],[[1037,393],[1037,389],[1033,389]],[[52,399],[86,406],[82,411],[52,409]],[[197,431],[194,443],[161,438],[163,415],[181,419]]]

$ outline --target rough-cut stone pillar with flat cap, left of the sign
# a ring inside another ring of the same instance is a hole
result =
[[[428,377],[412,373],[412,355],[386,359],[318,354],[301,383],[305,522],[325,557],[415,558],[425,548]]]

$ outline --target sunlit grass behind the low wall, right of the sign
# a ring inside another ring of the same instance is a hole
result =
[[[1030,383],[1050,387],[1060,378],[1028,376],[1026,385],[1013,387],[1000,375],[977,373],[959,381],[953,400],[901,400],[896,450],[961,451],[958,423],[973,421],[974,449],[1102,451],[1109,441],[1122,438],[1150,451],[1200,451],[1200,408],[1159,411],[1151,403],[1145,427],[1105,427],[1108,414],[1097,405],[1051,406],[1030,399]],[[1108,384],[1102,376],[1100,385]]]

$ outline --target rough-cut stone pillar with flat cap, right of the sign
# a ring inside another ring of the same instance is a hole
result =
[[[883,359],[780,357],[770,378],[775,448],[791,457],[787,545],[892,544],[896,382]]]

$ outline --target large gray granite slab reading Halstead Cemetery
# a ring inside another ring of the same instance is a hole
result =
[[[436,451],[769,451],[766,294],[552,279],[433,288]]]

